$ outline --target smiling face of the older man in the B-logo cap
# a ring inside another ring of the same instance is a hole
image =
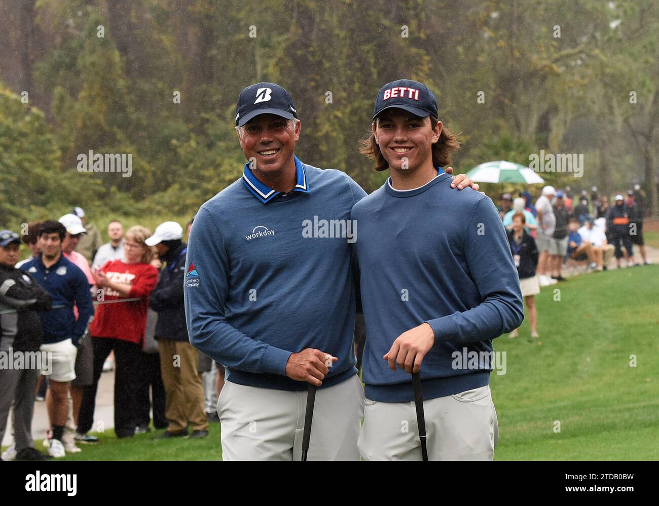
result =
[[[295,143],[300,138],[300,123],[274,114],[260,114],[241,127],[239,139],[245,158],[256,159],[254,172],[274,175],[291,163]]]

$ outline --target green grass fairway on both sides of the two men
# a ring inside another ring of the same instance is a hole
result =
[[[659,459],[659,265],[583,275],[536,299],[542,344],[527,341],[526,322],[517,339],[494,341],[507,353],[506,374],[492,374],[495,458]],[[219,460],[219,424],[209,430],[206,439],[165,441],[108,430],[65,460]]]

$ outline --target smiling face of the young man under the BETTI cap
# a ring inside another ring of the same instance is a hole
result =
[[[382,111],[372,128],[389,169],[414,171],[432,165],[432,144],[442,133],[441,121],[432,128],[429,116],[420,118],[392,107]]]

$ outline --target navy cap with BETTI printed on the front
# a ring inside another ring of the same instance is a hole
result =
[[[405,109],[420,118],[430,115],[439,117],[435,94],[425,84],[410,79],[392,81],[380,88],[375,101],[373,119],[375,120],[382,111],[391,107]]]

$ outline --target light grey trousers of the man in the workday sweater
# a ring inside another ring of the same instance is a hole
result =
[[[357,375],[316,391],[309,461],[358,461],[364,389]],[[217,399],[225,461],[299,461],[306,414],[301,392],[227,381]]]

